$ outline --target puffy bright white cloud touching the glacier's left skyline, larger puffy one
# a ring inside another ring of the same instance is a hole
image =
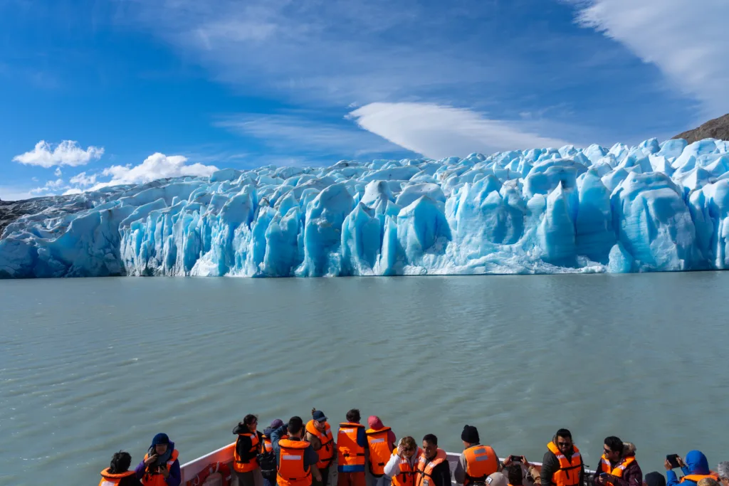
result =
[[[157,152],[147,157],[139,165],[112,165],[104,169],[102,175],[112,176],[112,179],[96,184],[91,190],[119,184],[144,184],[167,177],[209,176],[217,170],[218,168],[214,165],[200,163],[188,165],[187,157],[182,155],[168,157]]]

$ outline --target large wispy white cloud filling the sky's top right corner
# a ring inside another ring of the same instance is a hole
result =
[[[574,1],[574,0],[572,0]],[[727,0],[588,0],[577,19],[654,63],[704,116],[729,111]]]

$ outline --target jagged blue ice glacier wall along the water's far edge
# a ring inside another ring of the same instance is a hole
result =
[[[229,168],[12,204],[1,278],[729,267],[729,142],[714,139]]]

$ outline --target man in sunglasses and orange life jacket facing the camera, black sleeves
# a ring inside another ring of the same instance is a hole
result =
[[[572,432],[561,428],[547,444],[542,459],[542,486],[582,486],[585,479],[585,465],[580,450],[574,447]]]

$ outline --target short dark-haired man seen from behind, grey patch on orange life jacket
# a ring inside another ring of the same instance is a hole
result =
[[[286,434],[288,438],[283,439]],[[271,447],[278,465],[278,486],[311,486],[312,477],[321,482],[321,473],[316,468],[319,455],[303,436],[304,423],[300,417],[290,418],[287,425],[271,432]]]

